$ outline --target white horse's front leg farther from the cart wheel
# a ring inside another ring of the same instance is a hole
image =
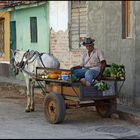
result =
[[[26,86],[27,86],[27,106],[25,112],[30,112],[31,106],[31,80],[26,78]]]

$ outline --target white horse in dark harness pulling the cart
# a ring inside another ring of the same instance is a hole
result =
[[[14,50],[12,51],[12,67],[15,75],[19,74],[19,70],[23,73],[27,89],[27,105],[25,112],[35,110],[34,91],[35,81],[32,77],[36,73],[36,67],[43,68],[60,68],[59,60],[49,53],[39,53],[34,50]]]

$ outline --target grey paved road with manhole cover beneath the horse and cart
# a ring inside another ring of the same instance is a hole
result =
[[[0,98],[0,139],[119,139],[140,138],[140,126],[101,118],[93,107],[67,110],[62,124],[49,124],[43,105],[25,113],[25,97]]]

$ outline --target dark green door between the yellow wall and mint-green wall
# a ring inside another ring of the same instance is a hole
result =
[[[10,49],[16,50],[16,21],[10,22]],[[10,51],[10,62],[12,52]]]

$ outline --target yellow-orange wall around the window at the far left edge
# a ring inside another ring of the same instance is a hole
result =
[[[0,57],[1,61],[10,61],[10,14],[8,12],[0,12],[0,17],[4,18],[4,57]]]

